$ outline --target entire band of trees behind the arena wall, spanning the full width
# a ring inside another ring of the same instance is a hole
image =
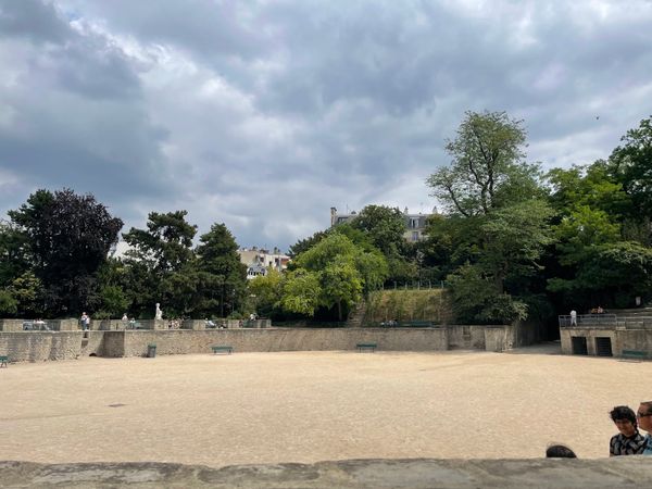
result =
[[[341,321],[384,284],[446,280],[457,322],[504,323],[555,311],[652,299],[652,118],[606,160],[543,173],[526,161],[522,121],[468,112],[447,141],[451,156],[427,179],[443,213],[427,239],[404,239],[405,216],[369,205],[351,222],[289,250],[287,273],[247,287],[224,224],[193,246],[186,212],[152,212],[146,229],[92,196],[39,190],[0,227],[0,313],[61,316],[82,310],[148,317],[249,312]],[[96,314],[97,315],[97,314]]]

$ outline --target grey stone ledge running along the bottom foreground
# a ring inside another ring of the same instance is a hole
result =
[[[0,462],[11,488],[643,488],[652,457],[600,460],[348,460],[211,468],[167,463]]]

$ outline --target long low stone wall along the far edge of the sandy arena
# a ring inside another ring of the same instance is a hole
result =
[[[383,351],[503,351],[513,336],[513,326],[15,331],[0,333],[0,354],[12,362],[140,356],[150,343],[158,354],[209,353],[214,344],[237,352],[354,350],[359,342],[375,342]]]

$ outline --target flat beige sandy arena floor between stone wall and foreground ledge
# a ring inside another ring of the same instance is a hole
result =
[[[0,369],[0,460],[223,466],[369,457],[609,455],[607,412],[652,362],[511,353],[284,352]]]

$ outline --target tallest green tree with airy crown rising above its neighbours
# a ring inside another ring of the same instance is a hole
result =
[[[525,161],[525,129],[504,112],[467,112],[451,164],[427,184],[448,215],[430,220],[424,262],[448,271],[457,321],[510,322],[527,315],[526,278],[553,242],[538,165]],[[428,255],[428,253],[434,253]]]

